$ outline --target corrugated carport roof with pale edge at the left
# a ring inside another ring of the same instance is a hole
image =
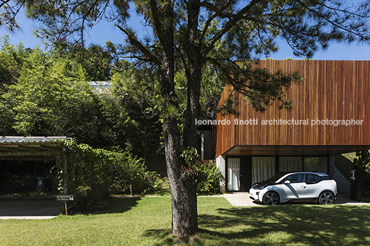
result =
[[[0,136],[0,160],[50,160],[66,136]]]

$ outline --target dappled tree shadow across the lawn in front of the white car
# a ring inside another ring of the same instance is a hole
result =
[[[197,239],[185,244],[370,245],[369,206],[233,207],[199,214],[198,221]],[[150,230],[146,236],[162,238],[157,245],[177,245],[166,230]]]

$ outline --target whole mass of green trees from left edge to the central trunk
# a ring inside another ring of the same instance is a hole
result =
[[[3,38],[0,135],[68,136],[93,147],[119,146],[144,158],[162,154],[161,110],[153,96],[157,89],[147,86],[146,70],[129,69],[131,64],[121,61],[112,94],[96,94],[85,81],[110,76],[105,69],[113,62],[114,45],[59,44],[43,52]]]

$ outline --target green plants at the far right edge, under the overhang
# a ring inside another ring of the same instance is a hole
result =
[[[370,152],[364,150],[356,152],[356,158],[353,159],[353,169],[362,170],[362,194],[370,196]]]

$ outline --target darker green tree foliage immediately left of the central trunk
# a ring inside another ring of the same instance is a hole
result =
[[[105,132],[125,150],[147,158],[162,154],[162,101],[158,81],[150,68],[133,68],[121,61],[112,76],[113,99],[105,107],[110,119]],[[123,135],[123,136],[122,136]],[[123,142],[124,141],[124,142]]]

